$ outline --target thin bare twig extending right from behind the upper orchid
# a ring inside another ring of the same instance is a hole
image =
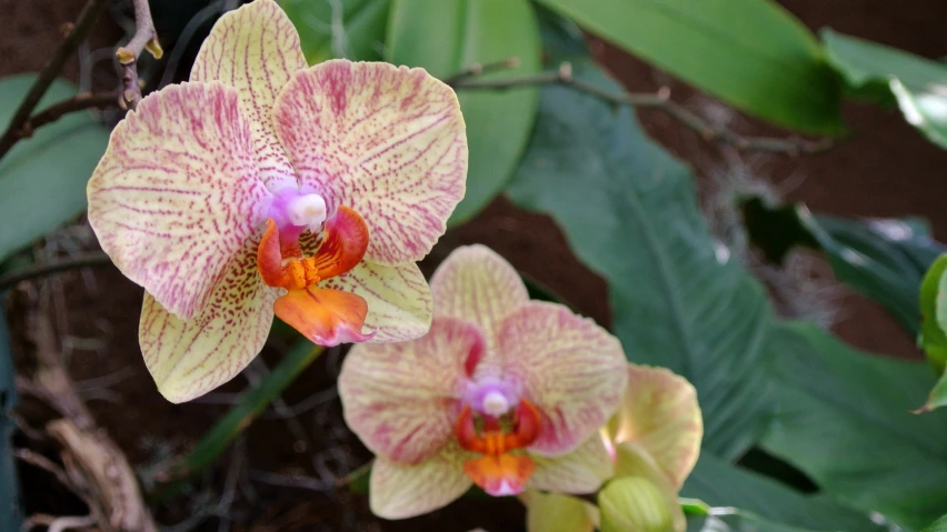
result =
[[[594,96],[616,106],[658,109],[692,129],[705,140],[726,142],[738,150],[769,151],[797,157],[800,154],[819,153],[835,145],[835,140],[829,138],[811,141],[799,137],[791,137],[787,139],[775,137],[745,137],[727,129],[724,126],[715,126],[691,111],[688,111],[684,106],[675,103],[670,99],[670,89],[667,87],[661,88],[655,93],[614,93],[599,89],[588,81],[572,77],[572,67],[568,62],[561,63],[559,69],[556,71],[546,71],[508,79],[468,80],[466,78],[467,77],[463,77],[449,84],[458,90],[508,90],[517,87],[560,84]]]

